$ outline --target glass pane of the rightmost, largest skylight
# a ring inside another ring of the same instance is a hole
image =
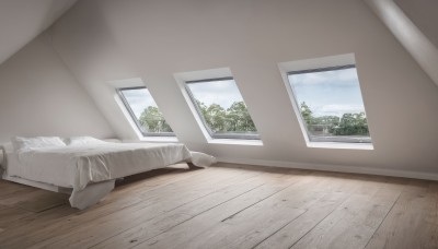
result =
[[[290,72],[288,78],[311,142],[371,142],[354,66]]]

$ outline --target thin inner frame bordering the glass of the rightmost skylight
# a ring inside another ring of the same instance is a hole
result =
[[[290,93],[292,94],[292,100],[295,102],[295,106],[296,111],[297,111],[297,116],[299,118],[299,121],[301,123],[301,129],[303,131],[303,133],[306,133],[306,139],[307,142],[310,144],[314,144],[314,143],[324,143],[324,144],[328,144],[328,143],[334,143],[334,144],[348,144],[348,145],[371,145],[372,146],[372,139],[371,139],[371,132],[369,131],[369,137],[362,137],[362,138],[354,138],[354,137],[339,137],[339,138],[335,138],[335,139],[327,139],[330,137],[315,137],[312,135],[308,129],[308,126],[306,124],[306,120],[302,117],[301,114],[301,107],[300,104],[298,103],[298,97],[297,94],[293,90],[292,86],[292,82],[289,79],[289,75],[296,75],[296,74],[304,74],[304,73],[314,73],[314,72],[327,72],[327,71],[335,71],[335,70],[344,70],[344,69],[355,69],[356,73],[357,73],[357,67],[355,63],[345,63],[343,66],[330,66],[330,67],[316,67],[314,69],[303,69],[303,70],[288,70],[286,72],[286,79],[287,79],[287,87],[289,87]],[[359,84],[359,90],[360,90],[360,82],[357,82]],[[360,95],[361,91],[360,91]],[[365,103],[364,103],[364,97],[362,97],[362,104],[364,104],[364,112],[366,114],[365,110]],[[366,115],[367,116],[367,115]],[[368,119],[367,119],[368,122]],[[365,141],[364,141],[365,140]],[[308,144],[309,145],[309,144]]]

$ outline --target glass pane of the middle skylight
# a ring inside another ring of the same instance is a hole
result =
[[[187,87],[212,138],[258,139],[234,80],[187,82]]]

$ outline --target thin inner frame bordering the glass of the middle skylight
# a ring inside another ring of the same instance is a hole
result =
[[[192,104],[194,105],[196,112],[198,117],[200,118],[200,121],[204,124],[204,128],[207,130],[208,134],[210,135],[211,139],[233,139],[233,140],[261,140],[258,132],[255,134],[249,134],[249,133],[215,133],[212,132],[211,128],[208,126],[207,121],[204,118],[203,111],[200,110],[199,106],[196,103],[196,98],[188,86],[189,84],[197,84],[197,83],[206,83],[206,82],[218,82],[218,81],[234,81],[234,78],[232,76],[222,76],[222,78],[209,78],[209,79],[204,79],[204,80],[192,80],[192,81],[185,81],[184,82],[184,87],[187,92],[188,97],[192,100]],[[234,84],[237,85],[235,81]],[[239,87],[238,87],[239,91]],[[242,96],[242,94],[239,91],[239,94]],[[242,97],[243,99],[243,97]],[[243,100],[244,102],[244,100]],[[246,103],[245,103],[246,105]],[[250,115],[251,116],[251,115]],[[252,118],[251,118],[252,119]]]

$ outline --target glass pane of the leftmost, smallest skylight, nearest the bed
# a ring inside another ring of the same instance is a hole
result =
[[[120,88],[120,97],[143,135],[173,135],[146,87]]]

